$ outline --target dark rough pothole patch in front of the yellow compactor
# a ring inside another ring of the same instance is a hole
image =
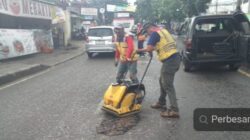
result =
[[[96,132],[106,136],[123,135],[132,129],[140,121],[139,115],[124,118],[107,117],[96,127]]]

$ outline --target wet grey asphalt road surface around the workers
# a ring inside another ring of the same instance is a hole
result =
[[[139,77],[147,63],[139,61]],[[161,118],[150,108],[159,96],[160,63],[154,60],[144,84],[140,122],[125,135],[96,133],[104,113],[103,93],[114,82],[112,57],[86,55],[9,87],[0,88],[0,140],[249,140],[250,132],[197,132],[196,108],[250,107],[250,79],[226,68],[178,71],[180,119]]]

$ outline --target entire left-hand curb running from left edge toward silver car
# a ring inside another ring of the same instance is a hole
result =
[[[16,71],[16,72],[13,72],[13,73],[8,73],[6,75],[3,75],[1,76],[0,75],[0,86],[4,85],[4,84],[7,84],[7,83],[10,83],[10,82],[13,82],[13,81],[16,81],[22,77],[25,77],[25,76],[28,76],[28,75],[32,75],[32,74],[35,74],[35,73],[38,73],[38,72],[41,72],[41,71],[44,71],[44,70],[47,70],[51,67],[54,67],[54,66],[58,66],[62,63],[65,63],[67,61],[70,61],[72,59],[75,59],[81,55],[84,55],[84,51],[75,55],[75,56],[72,56],[72,57],[69,57],[69,58],[66,58],[58,63],[55,63],[51,66],[48,66],[48,65],[43,65],[43,64],[36,64],[36,65],[33,65],[31,67],[28,67],[28,68],[25,68],[25,69],[22,69],[22,70],[19,70],[19,71]]]

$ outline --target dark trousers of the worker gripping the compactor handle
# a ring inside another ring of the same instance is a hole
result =
[[[161,95],[159,98],[159,103],[166,105],[166,96],[168,95],[170,101],[170,109],[173,111],[179,111],[176,92],[174,88],[174,77],[175,73],[180,67],[181,57],[179,54],[170,57],[169,59],[163,61],[161,67],[161,76],[160,76],[160,88]]]

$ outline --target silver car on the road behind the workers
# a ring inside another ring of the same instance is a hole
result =
[[[86,52],[91,58],[93,53],[114,53],[115,33],[111,26],[96,26],[89,28]]]

